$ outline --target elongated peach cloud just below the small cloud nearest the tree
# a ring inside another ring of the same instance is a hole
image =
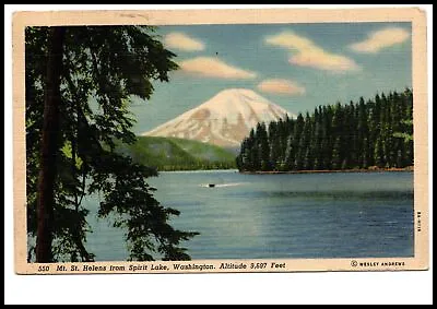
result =
[[[180,61],[178,64],[182,72],[204,78],[250,80],[257,76],[255,72],[233,67],[220,59],[211,57],[197,57]]]

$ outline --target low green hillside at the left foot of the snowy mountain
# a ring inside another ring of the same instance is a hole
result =
[[[118,152],[158,170],[235,168],[235,155],[218,146],[176,138],[138,136]]]

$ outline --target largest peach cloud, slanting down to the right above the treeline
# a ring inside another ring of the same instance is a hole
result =
[[[333,72],[361,70],[359,66],[353,59],[329,52],[312,40],[298,36],[291,31],[268,36],[265,43],[288,49],[292,52],[288,62],[296,66]]]

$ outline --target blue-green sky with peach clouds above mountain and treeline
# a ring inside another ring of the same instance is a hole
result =
[[[161,26],[180,66],[134,99],[135,133],[225,88],[250,88],[293,114],[412,86],[411,23]]]

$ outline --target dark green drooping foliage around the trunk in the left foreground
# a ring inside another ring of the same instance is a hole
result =
[[[145,182],[154,168],[115,151],[115,141],[133,144],[132,95],[149,99],[153,81],[167,82],[177,69],[149,26],[64,27],[61,105],[51,255],[54,261],[93,261],[85,248],[88,210],[82,199],[101,194],[99,217],[114,217],[126,230],[131,260],[187,260],[180,248],[196,233],[174,229],[179,212],[161,205]],[[37,233],[37,182],[47,83],[49,27],[25,29],[27,233]],[[28,260],[33,260],[29,248]]]

